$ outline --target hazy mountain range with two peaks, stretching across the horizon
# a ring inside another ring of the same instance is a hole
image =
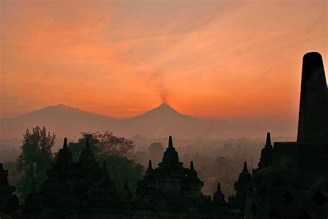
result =
[[[251,121],[248,123],[228,123],[227,121],[206,121],[181,114],[167,103],[129,119],[114,119],[86,112],[75,107],[55,105],[45,107],[22,116],[0,121],[1,139],[23,137],[26,129],[36,125],[45,126],[58,138],[69,137],[78,139],[80,132],[104,132],[109,130],[114,134],[131,137],[140,134],[149,138],[161,138],[174,135],[176,138],[233,138],[259,137],[268,131],[276,134],[292,133],[295,130],[292,123],[284,121]]]

